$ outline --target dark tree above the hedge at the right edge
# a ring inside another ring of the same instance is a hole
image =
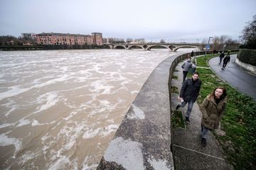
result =
[[[256,49],[256,15],[252,18],[252,22],[247,23],[247,26],[242,30],[240,38],[245,43],[244,47]]]

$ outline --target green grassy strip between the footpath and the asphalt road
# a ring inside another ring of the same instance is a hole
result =
[[[207,60],[215,56],[218,55],[198,57],[198,66],[208,67]],[[221,129],[225,131],[225,136],[216,135],[228,162],[233,164],[235,169],[255,169],[256,102],[223,82],[211,69],[198,68],[197,71],[201,73],[200,79],[203,81],[198,104],[202,103],[216,86],[225,86],[228,91],[228,106],[221,120]]]

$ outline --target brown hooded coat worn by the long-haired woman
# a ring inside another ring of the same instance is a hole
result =
[[[220,124],[220,119],[224,114],[227,100],[228,98],[225,96],[225,98],[217,104],[214,96],[208,95],[200,105],[201,112],[203,113],[201,125],[210,130],[217,129]]]

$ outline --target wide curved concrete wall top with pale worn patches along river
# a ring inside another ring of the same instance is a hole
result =
[[[97,170],[174,169],[171,79],[176,65],[187,54],[171,56],[154,69],[119,125]]]

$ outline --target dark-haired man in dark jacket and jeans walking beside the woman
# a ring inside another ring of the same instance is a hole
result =
[[[178,96],[181,103],[177,104],[176,110],[180,107],[185,107],[186,103],[188,103],[188,110],[186,111],[185,116],[186,123],[188,124],[190,123],[189,116],[193,108],[193,103],[196,101],[196,98],[199,95],[201,84],[202,81],[199,79],[199,73],[194,72],[191,79],[186,79],[181,86],[181,92]]]

